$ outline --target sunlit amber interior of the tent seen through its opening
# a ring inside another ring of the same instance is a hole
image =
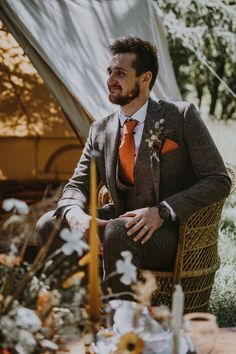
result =
[[[69,120],[0,21],[0,195],[11,180],[14,186],[16,180],[67,180],[81,150]]]

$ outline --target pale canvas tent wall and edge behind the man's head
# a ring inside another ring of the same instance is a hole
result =
[[[108,46],[117,37],[155,43],[159,74],[152,97],[181,99],[151,0],[3,0],[0,16],[83,139],[93,120],[116,109],[107,98],[106,69]]]

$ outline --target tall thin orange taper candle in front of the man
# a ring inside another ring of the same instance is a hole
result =
[[[89,259],[89,314],[92,320],[99,318],[99,278],[98,278],[98,240],[97,240],[97,177],[94,157],[90,167],[90,259]]]

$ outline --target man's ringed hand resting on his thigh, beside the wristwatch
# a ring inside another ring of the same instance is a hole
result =
[[[120,217],[132,218],[125,224],[125,227],[129,229],[127,235],[132,236],[139,231],[134,237],[134,241],[141,240],[142,244],[149,240],[154,231],[159,229],[164,221],[160,217],[157,207],[128,211],[127,213],[120,215]]]

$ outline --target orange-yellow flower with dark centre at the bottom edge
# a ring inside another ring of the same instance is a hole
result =
[[[124,334],[118,343],[120,354],[142,354],[144,341],[134,332]]]

